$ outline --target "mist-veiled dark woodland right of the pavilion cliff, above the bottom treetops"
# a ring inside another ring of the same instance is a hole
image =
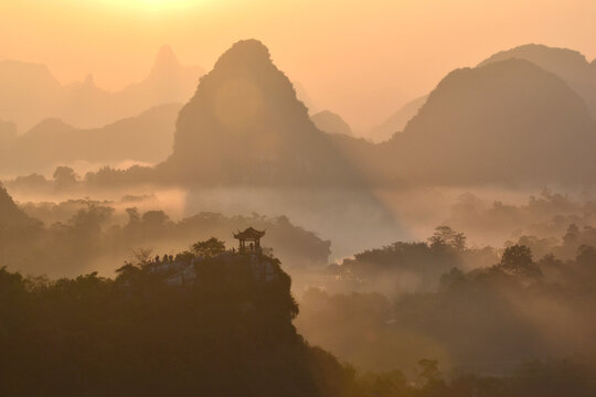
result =
[[[334,270],[350,288],[330,283],[304,294],[297,326],[312,343],[373,371],[412,368],[424,356],[449,373],[505,376],[533,360],[593,360],[593,246],[571,260],[539,259],[513,245],[479,266],[479,254],[432,243],[361,253]],[[464,270],[471,258],[477,267]],[[436,283],[416,283],[425,278]]]

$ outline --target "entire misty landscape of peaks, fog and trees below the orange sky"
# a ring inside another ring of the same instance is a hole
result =
[[[594,62],[501,51],[363,130],[221,50],[0,61],[1,396],[596,395]]]

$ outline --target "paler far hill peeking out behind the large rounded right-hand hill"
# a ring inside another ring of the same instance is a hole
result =
[[[526,44],[501,51],[480,63],[480,66],[510,58],[530,61],[556,74],[584,98],[592,114],[596,116],[596,67],[594,62],[588,63],[582,53],[541,44]]]

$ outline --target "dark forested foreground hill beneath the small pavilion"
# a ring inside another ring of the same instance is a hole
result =
[[[252,259],[203,257],[185,287],[145,259],[116,279],[0,269],[0,394],[349,395],[353,374],[297,334],[289,276],[262,257],[273,277],[259,279]]]

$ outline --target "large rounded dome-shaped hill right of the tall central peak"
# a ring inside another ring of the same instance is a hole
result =
[[[377,154],[411,181],[578,183],[594,174],[595,143],[595,122],[563,79],[507,60],[450,73]]]

